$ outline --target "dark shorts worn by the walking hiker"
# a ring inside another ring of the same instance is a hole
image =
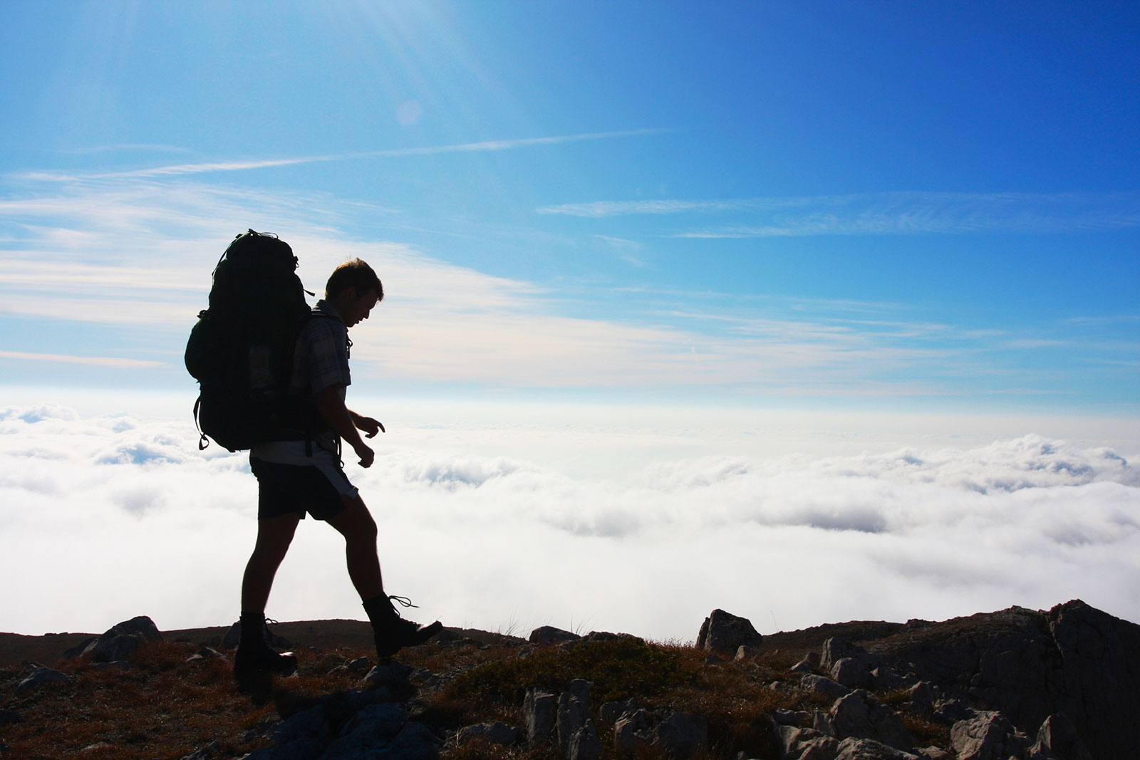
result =
[[[258,476],[258,520],[291,512],[304,520],[329,520],[341,514],[341,493],[355,491],[340,467],[278,465],[250,457],[250,469]]]

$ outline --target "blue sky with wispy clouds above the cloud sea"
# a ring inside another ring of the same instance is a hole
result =
[[[360,392],[1138,414],[1131,2],[7,3],[0,383],[193,395],[236,232]],[[59,391],[62,392],[62,391]]]

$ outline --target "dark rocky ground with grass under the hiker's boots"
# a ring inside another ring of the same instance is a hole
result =
[[[1140,627],[1075,600],[695,646],[446,630],[373,667],[367,623],[284,623],[299,671],[230,676],[235,630],[0,635],[0,757],[1116,760],[1140,746]],[[278,644],[285,644],[278,641]]]

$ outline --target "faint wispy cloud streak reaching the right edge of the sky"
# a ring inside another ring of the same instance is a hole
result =
[[[611,218],[731,214],[732,223],[667,237],[1057,232],[1140,226],[1137,193],[862,193],[726,199],[597,201],[542,206],[540,214]]]

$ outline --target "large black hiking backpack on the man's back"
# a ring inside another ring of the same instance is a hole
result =
[[[207,435],[238,451],[311,430],[316,409],[290,398],[293,349],[311,316],[296,265],[287,243],[252,229],[218,260],[210,308],[186,343],[186,368],[201,385],[198,449]]]

